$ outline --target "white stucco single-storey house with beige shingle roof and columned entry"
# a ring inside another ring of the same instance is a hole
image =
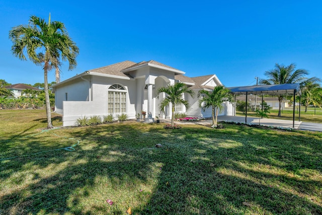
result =
[[[211,117],[211,110],[202,111],[198,106],[198,91],[212,90],[221,85],[216,75],[189,78],[185,72],[154,60],[135,63],[129,60],[112,65],[87,70],[70,79],[53,85],[55,111],[62,114],[63,126],[76,124],[76,119],[87,116],[105,116],[126,113],[135,119],[142,110],[147,112],[148,120],[155,116],[171,118],[172,108],[165,114],[158,110],[159,102],[165,95],[155,95],[156,89],[176,82],[183,82],[193,89],[196,96],[183,95],[191,104],[189,116]],[[224,104],[221,115],[232,115],[232,105]],[[175,107],[175,112],[186,112],[185,106]],[[142,117],[142,116],[141,116]]]

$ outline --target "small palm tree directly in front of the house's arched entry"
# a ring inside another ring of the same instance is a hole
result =
[[[169,104],[172,104],[171,126],[174,126],[175,106],[183,104],[188,111],[190,109],[190,104],[188,101],[182,98],[182,95],[187,93],[191,97],[194,97],[195,93],[191,89],[187,88],[187,86],[182,82],[177,82],[174,85],[168,85],[167,87],[157,89],[157,98],[159,98],[160,93],[166,93],[167,95],[160,102],[159,111],[160,113],[165,113],[165,107],[169,106]]]

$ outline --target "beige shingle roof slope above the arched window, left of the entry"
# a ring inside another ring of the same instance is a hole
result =
[[[136,64],[135,62],[125,60],[123,62],[103,66],[100,68],[90,69],[88,71],[93,73],[112,75],[112,76],[128,77],[128,75],[125,75],[124,73],[122,73],[121,70],[131,67],[132,65],[135,65],[135,64]]]

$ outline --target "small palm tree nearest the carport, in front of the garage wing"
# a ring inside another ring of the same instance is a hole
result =
[[[206,108],[212,109],[212,124],[217,125],[217,117],[218,117],[218,109],[221,111],[223,109],[222,103],[227,101],[229,98],[229,89],[225,88],[222,85],[218,85],[214,87],[212,91],[200,90],[198,92],[198,97],[204,94],[204,96],[200,97],[198,100],[199,107],[202,108],[203,111]],[[216,109],[216,118],[215,118],[215,109]]]

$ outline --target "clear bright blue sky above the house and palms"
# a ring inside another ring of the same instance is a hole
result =
[[[226,87],[255,85],[275,63],[322,78],[322,1],[4,1],[0,79],[43,83],[43,70],[11,53],[9,31],[35,15],[63,22],[79,47],[77,67],[156,60],[188,77],[216,74]],[[54,81],[54,71],[48,81]]]

